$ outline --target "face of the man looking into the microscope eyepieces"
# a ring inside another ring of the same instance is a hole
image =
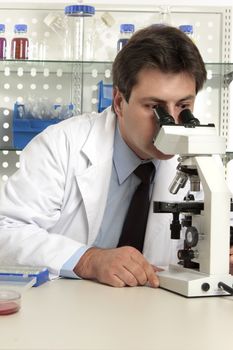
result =
[[[161,105],[179,123],[182,109],[193,110],[195,96],[195,80],[186,73],[142,70],[128,103],[119,90],[114,92],[114,108],[124,141],[141,159],[171,158],[171,155],[161,153],[153,144],[158,132],[153,107]]]

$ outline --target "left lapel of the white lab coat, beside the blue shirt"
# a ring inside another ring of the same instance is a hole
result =
[[[98,234],[112,171],[113,142],[116,117],[110,109],[99,117],[82,148],[88,166],[76,175],[88,221],[88,242],[92,244]]]

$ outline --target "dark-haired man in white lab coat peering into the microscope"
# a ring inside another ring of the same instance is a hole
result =
[[[118,287],[157,287],[155,266],[174,259],[177,245],[170,214],[154,214],[150,206],[143,254],[117,247],[138,185],[133,171],[151,160],[151,203],[171,199],[177,162],[153,144],[153,108],[163,106],[179,123],[205,79],[197,47],[178,29],[135,33],[113,64],[113,108],[51,126],[22,152],[20,169],[1,191],[0,264],[47,266],[55,275]]]

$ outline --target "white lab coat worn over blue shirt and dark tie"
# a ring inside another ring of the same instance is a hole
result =
[[[47,266],[59,274],[78,248],[93,244],[108,195],[115,124],[110,108],[73,117],[24,149],[20,169],[1,191],[0,264]],[[167,188],[176,165],[161,161],[154,199],[175,199]],[[144,254],[153,264],[167,265],[172,258],[169,219],[151,207]]]

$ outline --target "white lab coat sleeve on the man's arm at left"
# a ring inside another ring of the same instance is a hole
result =
[[[52,229],[61,213],[67,147],[62,133],[58,142],[43,132],[22,152],[20,169],[0,195],[0,264],[42,265],[59,275],[83,246]]]

